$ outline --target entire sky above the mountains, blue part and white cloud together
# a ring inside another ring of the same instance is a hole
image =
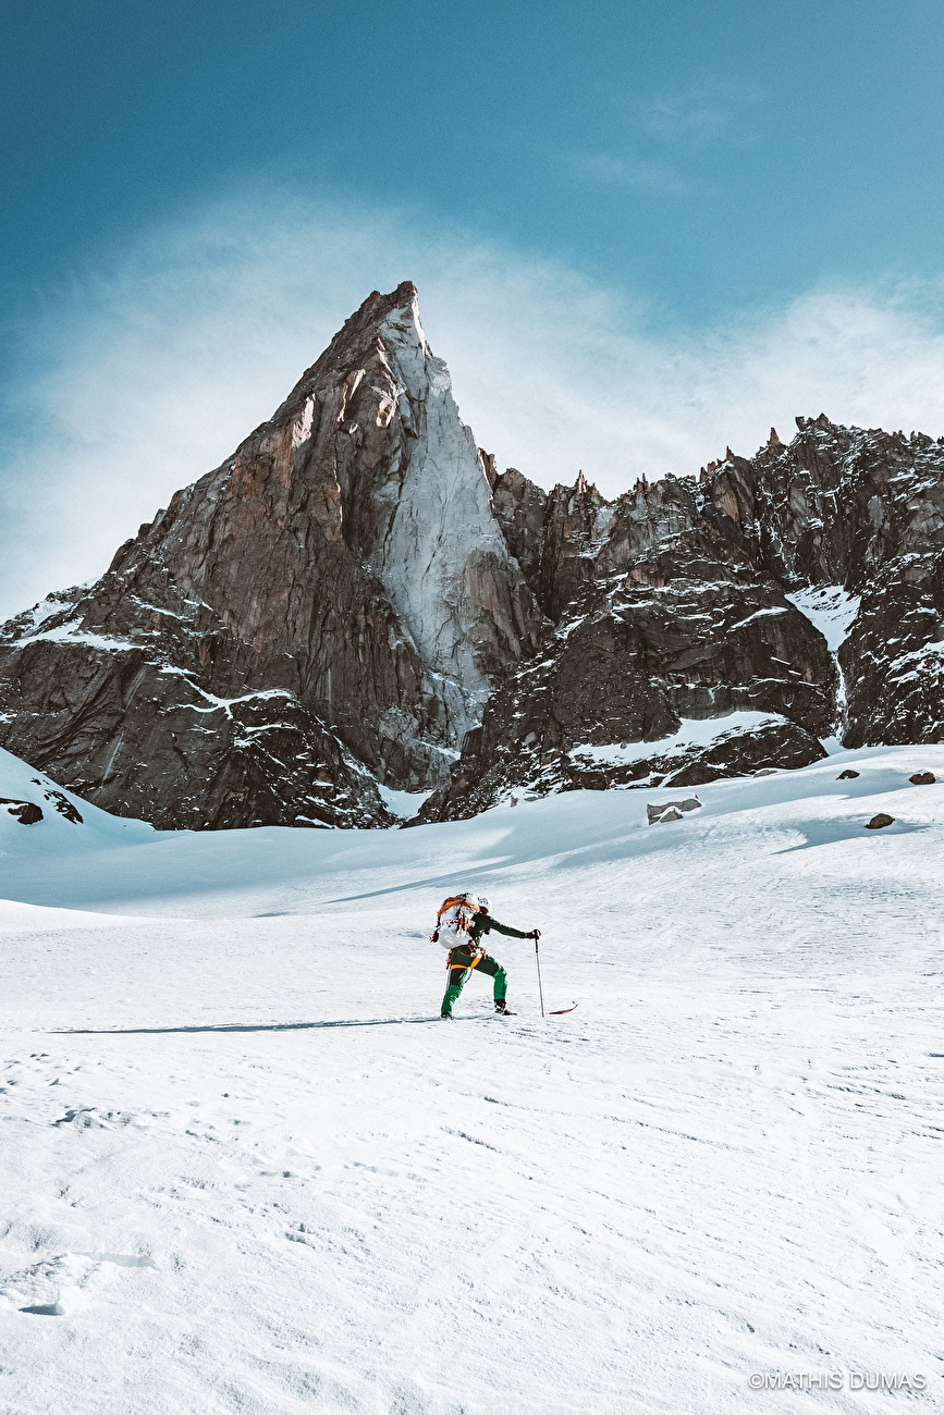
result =
[[[834,416],[944,426],[940,3],[4,14],[17,604],[98,573],[402,277],[463,413],[538,480],[696,470],[824,379]]]

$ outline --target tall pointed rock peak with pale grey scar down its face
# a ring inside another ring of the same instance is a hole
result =
[[[0,741],[156,825],[386,825],[539,616],[416,290],[372,294],[93,586],[0,631]]]

